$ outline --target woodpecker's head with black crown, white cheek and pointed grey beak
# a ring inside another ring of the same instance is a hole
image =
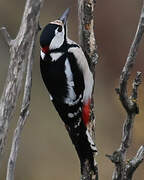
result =
[[[69,14],[69,8],[63,15],[53,22],[46,25],[40,36],[40,45],[42,51],[46,54],[49,50],[60,48],[66,40],[66,22]]]

